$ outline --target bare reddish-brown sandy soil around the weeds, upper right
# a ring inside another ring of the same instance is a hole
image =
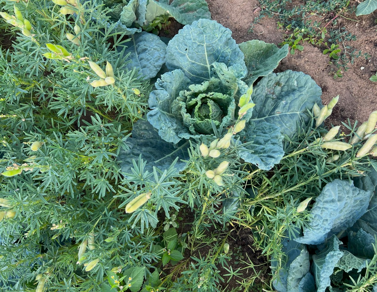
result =
[[[237,43],[258,39],[277,45],[284,40],[282,31],[276,28],[277,20],[274,18],[262,18],[249,32],[254,18],[261,11],[257,0],[207,0],[207,3],[212,19],[230,28]],[[331,68],[335,67],[329,64],[328,55],[323,55],[323,49],[310,44],[306,44],[302,52],[288,54],[275,70],[281,72],[291,69],[310,75],[322,88],[324,104],[339,94],[339,103],[328,119],[328,123],[334,125],[347,122],[347,118],[351,121],[366,121],[370,112],[377,110],[377,82],[369,81],[377,71],[377,25],[374,24],[377,12],[360,17],[352,15],[352,18],[360,21],[356,23],[342,18],[339,25],[356,35],[357,40],[351,41],[350,45],[371,57],[368,60],[357,58],[354,64],[348,65],[349,69],[343,72],[342,78],[334,80],[333,74],[329,75]]]

